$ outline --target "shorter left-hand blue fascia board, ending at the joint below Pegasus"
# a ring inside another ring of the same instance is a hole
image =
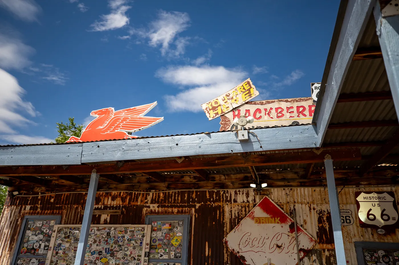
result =
[[[0,147],[1,166],[79,165],[83,144]]]

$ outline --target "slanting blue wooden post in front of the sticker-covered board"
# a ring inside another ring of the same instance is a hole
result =
[[[90,177],[89,192],[87,193],[85,214],[83,215],[82,229],[80,230],[80,238],[77,245],[75,265],[83,265],[85,261],[87,239],[89,238],[91,218],[93,216],[93,207],[99,178],[100,175],[97,174],[97,171],[94,169],[91,172]]]

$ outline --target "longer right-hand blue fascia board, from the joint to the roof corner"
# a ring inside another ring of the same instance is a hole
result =
[[[314,125],[256,129],[248,135],[245,142],[238,140],[237,132],[219,132],[84,143],[82,163],[314,148],[317,144]]]

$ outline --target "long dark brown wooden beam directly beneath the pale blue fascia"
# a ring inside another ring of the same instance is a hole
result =
[[[324,156],[330,154],[335,161],[360,160],[358,148],[322,150],[319,154],[311,151],[284,152],[273,154],[253,154],[248,158],[242,156],[221,156],[209,158],[186,158],[182,162],[176,160],[156,160],[143,162],[127,162],[118,167],[115,164],[72,165],[64,169],[62,166],[20,166],[1,167],[0,175],[89,175],[94,168],[104,177],[104,174],[173,171],[188,169],[229,168],[238,166],[269,166],[298,163],[318,163],[324,161]]]

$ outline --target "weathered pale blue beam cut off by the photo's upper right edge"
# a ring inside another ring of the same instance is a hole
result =
[[[383,17],[377,2],[374,18],[396,115],[399,117],[399,15]]]

